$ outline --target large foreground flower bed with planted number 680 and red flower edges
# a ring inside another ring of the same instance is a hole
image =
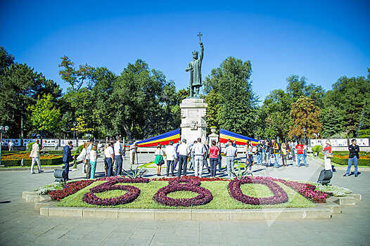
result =
[[[251,185],[241,188],[243,183]],[[89,185],[94,187],[77,193]],[[126,190],[127,193],[122,195],[120,190]],[[195,197],[193,193],[197,193]],[[230,181],[193,176],[161,179],[120,176],[67,183],[63,190],[49,191],[49,195],[52,200],[68,199],[60,203],[60,206],[68,207],[243,209],[262,206],[313,207],[312,202],[325,202],[331,193],[317,190],[310,183],[271,177],[247,177]],[[66,198],[69,195],[70,198]]]

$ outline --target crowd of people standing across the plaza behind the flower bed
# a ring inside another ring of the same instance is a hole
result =
[[[82,152],[77,157],[77,160],[82,161],[82,171],[87,179],[95,178],[96,162],[98,156],[102,152],[105,164],[105,176],[109,177],[123,174],[122,162],[125,157],[125,147],[122,147],[120,141],[120,136],[117,136],[115,139],[110,139],[106,145],[103,145],[101,142],[96,144],[94,140],[84,143]],[[323,147],[324,167],[326,170],[333,171],[331,166],[331,157],[333,157],[331,142],[327,140]],[[69,162],[71,158],[73,158],[71,155],[72,148],[72,141],[68,141],[68,144],[63,148],[63,163],[65,164],[67,180],[69,179]],[[30,157],[32,157],[32,174],[34,174],[34,163],[37,163],[39,173],[42,172],[39,157],[39,151],[41,149],[42,147],[39,146],[39,140],[37,140],[37,142],[32,145],[32,151],[30,153]],[[355,139],[352,140],[352,144],[348,149],[350,150],[350,156],[348,160],[348,169],[344,176],[349,175],[352,163],[355,165],[355,176],[357,176],[359,146]],[[129,148],[130,164],[135,164],[135,157],[137,157],[136,151],[137,145],[133,143]],[[226,168],[224,170],[222,170],[221,164],[222,153],[224,157],[226,157]],[[212,177],[216,176],[217,171],[219,173],[227,171],[227,177],[232,178],[234,176],[233,172],[237,156],[238,149],[236,148],[236,141],[233,142],[230,139],[223,152],[221,143],[216,141],[211,141],[211,145],[209,145],[208,141],[201,143],[201,138],[198,138],[197,141],[188,145],[186,139],[183,139],[179,141],[177,145],[174,145],[173,141],[170,141],[165,147],[165,151],[162,150],[162,145],[158,143],[154,153],[154,164],[157,167],[158,176],[161,176],[162,164],[167,162],[166,176],[186,176],[187,172],[191,170],[194,171],[194,176],[202,177],[203,169],[205,168]],[[283,141],[283,143],[277,143],[272,139],[271,143],[270,141],[258,141],[255,147],[253,147],[250,141],[245,145],[245,169],[249,168],[250,170],[254,164],[274,168],[288,166],[289,160],[291,160],[291,165],[295,163],[296,167],[300,167],[301,159],[305,167],[309,167],[306,157],[307,146],[303,145],[301,141]],[[280,165],[280,159],[282,165]]]

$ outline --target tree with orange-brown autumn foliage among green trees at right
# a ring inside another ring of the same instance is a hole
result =
[[[321,134],[322,125],[319,122],[319,117],[320,108],[314,104],[314,101],[307,96],[300,97],[296,103],[292,104],[289,137],[302,138],[304,136],[303,128],[306,129],[306,137],[313,138],[314,133]]]

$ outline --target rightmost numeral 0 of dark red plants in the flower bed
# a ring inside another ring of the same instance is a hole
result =
[[[241,185],[243,183],[262,183],[270,188],[272,193],[274,194],[272,197],[269,198],[254,198],[248,195],[243,194],[241,191]],[[229,193],[232,198],[238,200],[239,202],[243,202],[245,204],[250,205],[276,205],[283,202],[288,202],[288,194],[286,194],[285,190],[281,188],[277,183],[274,181],[269,181],[268,179],[263,179],[261,177],[246,177],[245,179],[234,179],[229,183]]]

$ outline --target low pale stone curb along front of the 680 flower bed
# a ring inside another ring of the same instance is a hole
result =
[[[342,206],[354,206],[362,200],[360,194],[346,197],[331,197],[317,207],[272,208],[272,209],[115,209],[96,207],[55,207],[58,202],[48,195],[24,191],[22,198],[34,202],[34,210],[40,216],[84,217],[106,219],[150,219],[181,221],[245,221],[245,220],[291,220],[330,219],[332,214],[341,214]]]

